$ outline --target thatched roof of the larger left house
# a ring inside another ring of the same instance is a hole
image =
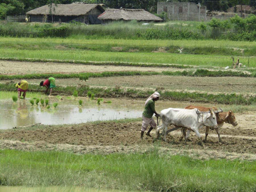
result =
[[[104,8],[100,4],[52,4],[52,14],[58,16],[80,16],[98,7],[102,12]],[[55,9],[55,10],[54,10]],[[50,6],[45,5],[26,12],[27,15],[49,14]]]

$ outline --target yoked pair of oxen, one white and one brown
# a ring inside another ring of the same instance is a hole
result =
[[[218,110],[216,107],[208,108],[192,105],[184,109],[164,109],[160,112],[160,118],[162,119],[162,125],[156,128],[156,138],[159,138],[159,131],[162,130],[162,136],[166,141],[167,128],[169,125],[173,125],[176,128],[181,128],[182,136],[180,137],[180,141],[185,137],[186,144],[190,132],[194,131],[202,146],[204,146],[204,143],[198,130],[203,126],[206,126],[205,142],[210,129],[216,130],[219,142],[222,142],[220,138],[220,128],[223,126],[224,122],[232,124],[233,126],[238,124],[232,110],[222,112],[222,110]]]

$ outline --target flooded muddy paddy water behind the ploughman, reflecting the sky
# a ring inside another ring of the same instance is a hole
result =
[[[104,99],[97,104],[89,98],[46,97],[50,109],[39,103],[32,106],[31,98],[20,99],[16,103],[11,99],[0,100],[0,129],[10,129],[32,124],[79,124],[84,122],[139,118],[144,110],[144,100]],[[79,106],[78,101],[83,101]],[[112,103],[106,103],[112,101]],[[54,108],[52,104],[58,103]],[[184,102],[157,101],[156,111],[164,108],[184,108]]]

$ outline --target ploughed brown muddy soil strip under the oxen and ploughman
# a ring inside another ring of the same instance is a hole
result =
[[[180,130],[163,141],[153,143],[153,138],[140,140],[141,122],[78,124],[39,126],[0,132],[0,148],[18,150],[62,150],[76,153],[109,154],[113,152],[145,152],[158,148],[167,154],[186,154],[194,158],[228,158],[256,160],[256,130],[254,112],[236,114],[238,126],[224,124],[221,129],[224,144],[218,142],[215,131],[210,131],[205,146],[199,145],[196,134],[191,133],[191,142],[179,141]],[[200,130],[204,138],[205,129]],[[152,130],[155,136],[155,130]]]

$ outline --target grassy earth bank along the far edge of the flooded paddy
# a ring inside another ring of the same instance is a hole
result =
[[[0,84],[1,90],[14,91],[15,87],[13,84]],[[42,92],[39,86],[30,85],[30,90],[33,92]],[[93,92],[91,99],[94,100],[94,96],[97,97],[132,97],[132,98],[147,98],[148,95],[154,93],[154,91],[147,90],[136,90],[114,87],[114,88],[90,88],[89,86],[66,86],[56,87],[56,92],[62,95],[71,95],[75,90],[78,96],[87,96],[88,91]],[[163,99],[170,99],[174,101],[190,101],[190,102],[205,102],[205,103],[218,103],[218,104],[229,104],[229,105],[251,105],[256,104],[255,96],[242,96],[236,94],[207,94],[207,93],[197,93],[197,92],[175,92],[175,91],[158,91]],[[39,99],[38,99],[39,102]]]

